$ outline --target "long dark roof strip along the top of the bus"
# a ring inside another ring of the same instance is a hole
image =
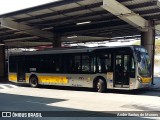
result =
[[[63,54],[63,53],[87,53],[93,52],[95,50],[101,49],[115,49],[115,48],[133,48],[136,45],[130,46],[104,46],[104,47],[83,47],[83,48],[55,48],[48,49],[43,51],[30,51],[30,52],[19,52],[19,53],[11,53],[10,56],[19,56],[19,55],[38,55],[38,54]],[[141,47],[141,46],[137,46]]]

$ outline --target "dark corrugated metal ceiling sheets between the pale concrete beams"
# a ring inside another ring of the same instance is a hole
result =
[[[157,0],[117,0],[147,20],[160,20],[160,7]],[[104,10],[102,0],[62,0],[46,5],[1,15],[15,22],[60,33],[62,36],[122,37],[139,35],[140,31]],[[77,22],[92,21],[91,24],[77,26]],[[26,33],[0,28],[0,41],[31,37]],[[24,39],[25,40],[25,39]],[[34,40],[33,40],[34,41]],[[50,42],[35,39],[37,42]],[[72,39],[74,41],[74,39]]]

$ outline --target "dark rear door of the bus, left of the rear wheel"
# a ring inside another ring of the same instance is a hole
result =
[[[25,61],[22,57],[17,62],[17,79],[18,82],[25,82]]]

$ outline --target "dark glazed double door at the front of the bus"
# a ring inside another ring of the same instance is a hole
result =
[[[130,55],[114,56],[114,87],[129,88]]]

